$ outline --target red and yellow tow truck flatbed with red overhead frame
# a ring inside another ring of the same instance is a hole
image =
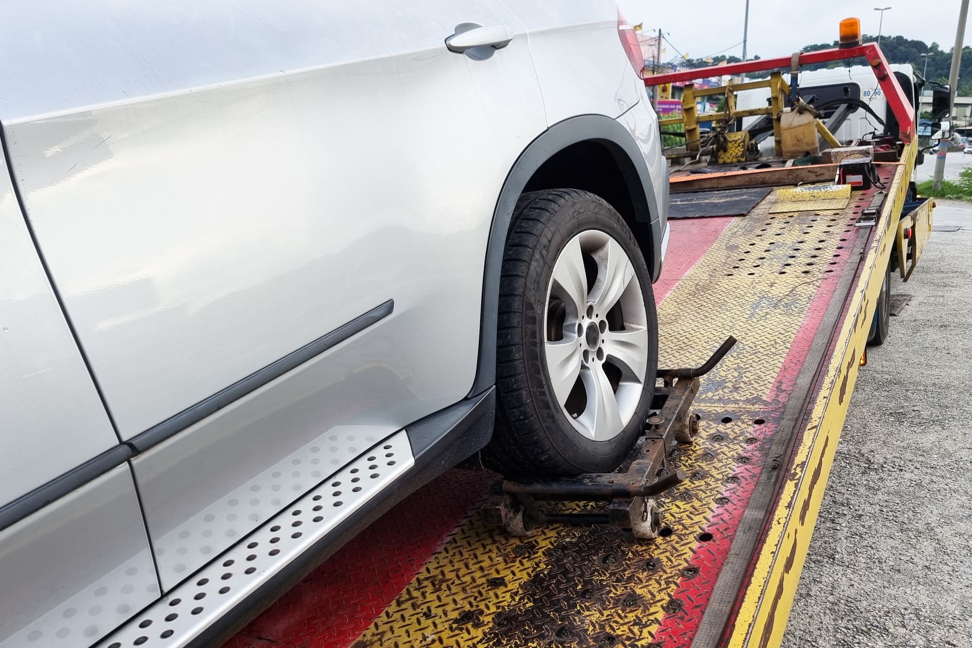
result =
[[[753,204],[671,221],[654,287],[660,365],[702,364],[727,336],[738,342],[729,351],[727,341],[701,378],[664,376],[668,400],[617,480],[501,483],[451,470],[226,648],[780,645],[872,324],[887,307],[887,272],[896,265],[909,275],[931,230],[933,205],[910,183],[915,109],[874,44],[645,82],[772,72],[724,90],[723,123],[742,117],[732,112],[734,91],[771,84],[766,113],[750,115],[769,114],[779,141],[785,94],[799,102],[795,74],[786,85],[779,71],[852,58],[871,66],[898,124],[874,154],[867,188],[786,204],[793,188],[833,184],[839,163],[737,160],[673,174],[674,197],[729,205],[745,189]],[[686,115],[695,108],[688,89]],[[585,501],[551,512],[539,499]],[[607,512],[587,501],[598,499]]]

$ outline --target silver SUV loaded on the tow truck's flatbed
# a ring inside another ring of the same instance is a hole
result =
[[[0,646],[213,645],[461,460],[638,436],[668,189],[612,0],[13,0],[0,43]]]

